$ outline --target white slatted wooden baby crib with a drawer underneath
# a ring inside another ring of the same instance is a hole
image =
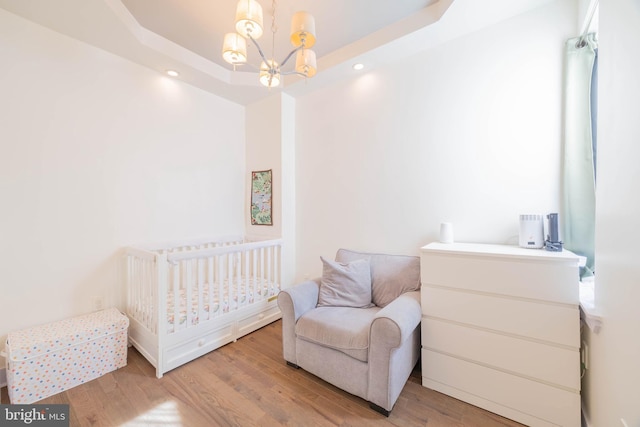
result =
[[[281,317],[282,240],[126,249],[129,340],[162,375]]]

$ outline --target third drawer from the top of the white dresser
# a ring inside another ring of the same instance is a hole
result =
[[[577,349],[425,318],[422,319],[422,347],[576,393],[580,391]]]

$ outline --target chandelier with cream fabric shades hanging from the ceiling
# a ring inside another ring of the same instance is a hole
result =
[[[316,74],[316,54],[310,48],[315,44],[315,20],[307,12],[296,12],[291,19],[291,44],[294,48],[286,58],[277,63],[274,56],[276,26],[276,1],[272,1],[271,21],[271,58],[268,59],[258,39],[264,32],[262,25],[262,6],[256,0],[240,0],[236,9],[236,32],[227,33],[222,45],[222,58],[233,65],[246,65],[255,68],[259,72],[260,83],[267,87],[280,85],[282,75],[297,74],[302,77],[313,77]],[[258,49],[262,63],[257,68],[247,63],[247,39],[251,40]],[[287,61],[296,55],[296,64],[292,71],[283,71]]]

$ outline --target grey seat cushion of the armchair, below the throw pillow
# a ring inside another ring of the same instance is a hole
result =
[[[318,307],[298,319],[296,335],[366,362],[371,322],[380,310],[379,307]]]

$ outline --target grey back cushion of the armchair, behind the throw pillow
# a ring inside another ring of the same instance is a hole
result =
[[[420,289],[420,258],[406,255],[371,254],[340,249],[336,261],[366,259],[371,265],[372,301],[384,307],[405,292]]]

